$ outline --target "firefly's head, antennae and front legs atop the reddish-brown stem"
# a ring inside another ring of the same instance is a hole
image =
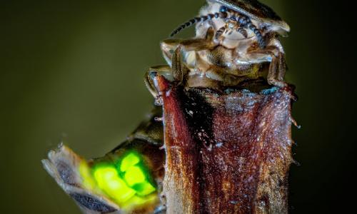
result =
[[[290,31],[288,24],[255,0],[207,3],[199,16],[171,34],[196,24],[196,37],[163,41],[161,50],[169,66],[154,67],[149,72],[164,73],[196,88],[220,90],[262,78],[273,86],[286,87],[285,54],[278,37]]]

